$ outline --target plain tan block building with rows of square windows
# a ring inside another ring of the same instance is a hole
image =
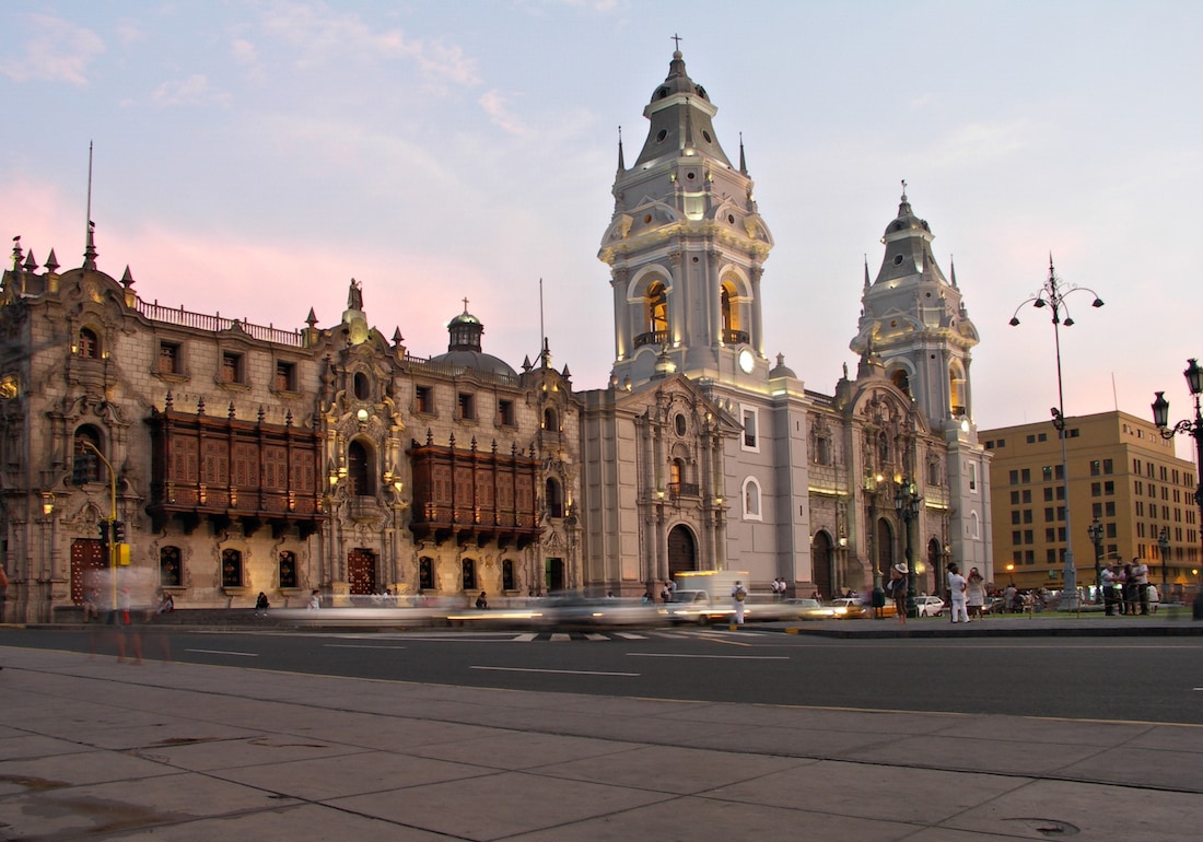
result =
[[[1000,585],[1057,588],[1073,527],[1079,587],[1095,585],[1102,530],[1103,562],[1140,558],[1150,581],[1190,586],[1199,567],[1195,464],[1174,455],[1151,420],[1110,411],[1066,419],[1068,506],[1061,440],[1051,422],[982,432],[995,491],[994,546]],[[1166,555],[1160,540],[1165,536]]]

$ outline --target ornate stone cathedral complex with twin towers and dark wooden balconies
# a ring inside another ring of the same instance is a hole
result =
[[[672,54],[628,167],[609,268],[614,364],[577,389],[549,342],[518,369],[469,312],[419,356],[351,280],[331,327],[165,308],[100,268],[14,241],[0,287],[0,561],[6,618],[79,605],[93,577],[180,607],[389,591],[636,597],[691,570],[829,598],[915,593],[956,561],[992,579],[989,456],[972,415],[978,337],[955,271],[903,194],[834,393],[766,354],[774,237],[742,143]],[[765,290],[768,289],[768,293]],[[849,318],[849,332],[853,332]],[[654,591],[653,591],[654,592]]]

